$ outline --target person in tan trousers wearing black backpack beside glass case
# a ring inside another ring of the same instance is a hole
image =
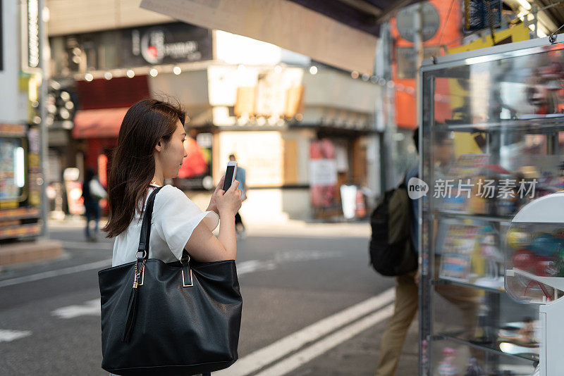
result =
[[[419,152],[419,129],[413,132],[413,142]],[[371,261],[374,269],[384,275],[396,275],[396,303],[393,316],[382,335],[380,358],[376,376],[393,376],[398,366],[405,335],[415,314],[419,299],[417,281],[417,255],[419,253],[419,201],[407,196],[407,184],[412,177],[419,175],[419,163],[407,171],[405,180],[397,189],[386,192],[384,201],[372,215]],[[388,201],[386,201],[388,200]],[[386,215],[380,215],[383,221],[374,215],[382,204],[388,204]],[[386,234],[377,234],[384,225]],[[380,223],[379,223],[380,222]],[[387,227],[390,227],[388,229]],[[396,228],[393,228],[396,227]],[[379,239],[375,239],[379,237]],[[386,242],[387,244],[382,244]],[[386,256],[386,254],[389,255]],[[393,258],[392,255],[398,257]]]

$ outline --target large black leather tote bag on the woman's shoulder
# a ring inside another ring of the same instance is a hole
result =
[[[195,375],[238,358],[243,299],[235,261],[148,258],[155,189],[147,200],[137,261],[98,272],[102,368],[116,375]]]

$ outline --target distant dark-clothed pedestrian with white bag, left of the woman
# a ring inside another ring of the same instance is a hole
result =
[[[84,208],[86,217],[85,236],[89,242],[96,242],[98,239],[98,225],[100,221],[101,199],[107,196],[106,190],[100,184],[98,177],[92,168],[88,168],[82,182],[82,197],[84,198]],[[90,232],[90,221],[94,220],[94,232]]]

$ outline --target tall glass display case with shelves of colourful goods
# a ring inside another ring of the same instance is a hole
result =
[[[550,228],[512,219],[564,190],[562,42],[422,65],[420,375],[532,375],[539,361],[538,304],[562,292],[527,272],[564,275],[564,208],[553,208],[562,225]],[[517,272],[506,285],[508,265]]]

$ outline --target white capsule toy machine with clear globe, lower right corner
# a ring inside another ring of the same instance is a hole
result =
[[[505,242],[505,291],[515,301],[537,306],[532,322],[517,339],[540,344],[539,376],[564,375],[564,192],[529,203],[511,221]]]

